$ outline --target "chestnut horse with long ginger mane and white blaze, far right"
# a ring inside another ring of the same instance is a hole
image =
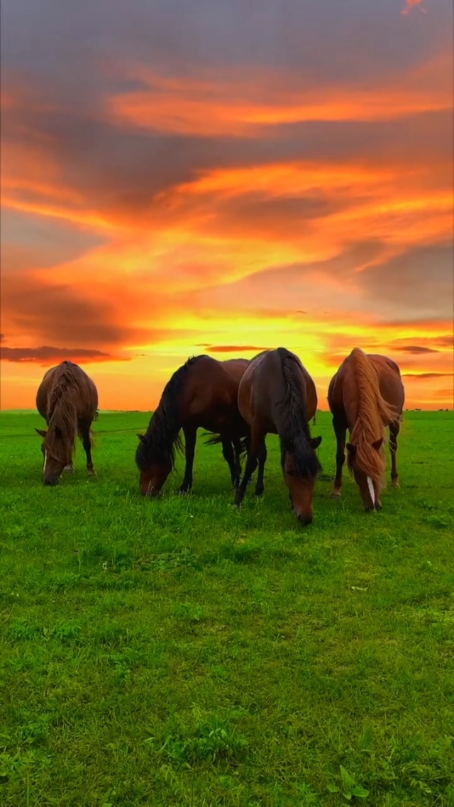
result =
[[[328,403],[337,440],[336,479],[332,495],[341,495],[347,429],[347,463],[367,512],[381,510],[385,487],[385,428],[389,426],[391,480],[397,482],[397,435],[401,428],[405,391],[397,364],[386,356],[351,351],[331,379]]]

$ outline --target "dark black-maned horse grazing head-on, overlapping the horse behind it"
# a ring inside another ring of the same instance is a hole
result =
[[[250,424],[250,448],[236,504],[242,503],[250,476],[259,463],[255,495],[264,491],[267,433],[279,434],[284,481],[292,509],[304,524],[313,520],[313,487],[322,470],[315,449],[322,437],[311,437],[309,420],[317,411],[317,391],[295,353],[265,350],[248,366],[238,388],[238,408]]]

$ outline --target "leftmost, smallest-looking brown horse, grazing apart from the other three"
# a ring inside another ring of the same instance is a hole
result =
[[[91,460],[90,426],[98,408],[98,391],[86,373],[73,362],[61,362],[44,375],[36,393],[36,408],[48,424],[44,437],[44,484],[57,485],[63,470],[74,473],[76,435],[82,438],[88,473],[95,475]]]

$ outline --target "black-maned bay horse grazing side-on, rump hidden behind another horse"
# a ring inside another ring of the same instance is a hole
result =
[[[192,487],[197,429],[214,434],[208,443],[221,442],[233,487],[241,476],[241,454],[249,429],[238,412],[238,384],[246,359],[217,362],[210,356],[194,356],[172,375],[153,412],[145,435],[138,434],[136,462],[141,472],[141,492],[159,495],[174,468],[175,448],[181,447],[183,429],[186,467],[180,493]]]

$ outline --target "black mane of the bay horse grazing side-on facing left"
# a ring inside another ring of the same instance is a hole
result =
[[[200,358],[205,358],[204,354],[188,358],[166,383],[143,441],[141,440],[137,446],[136,462],[140,470],[147,470],[153,461],[170,461],[172,470],[174,469],[175,451],[183,447],[179,436],[181,429],[179,400],[187,381],[187,374]]]

